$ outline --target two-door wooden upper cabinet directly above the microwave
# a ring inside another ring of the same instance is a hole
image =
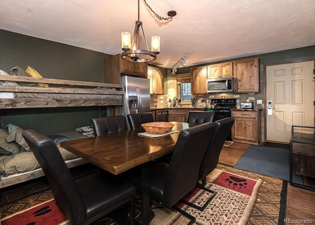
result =
[[[233,62],[212,64],[207,67],[207,79],[233,76]]]

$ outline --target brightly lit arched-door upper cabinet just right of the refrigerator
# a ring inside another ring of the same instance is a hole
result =
[[[150,94],[164,95],[163,71],[158,67],[148,66],[148,78],[150,79]]]

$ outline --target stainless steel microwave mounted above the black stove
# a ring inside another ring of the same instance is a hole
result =
[[[234,92],[233,77],[207,79],[207,93]]]

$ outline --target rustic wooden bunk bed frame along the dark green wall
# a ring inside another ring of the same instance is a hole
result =
[[[12,75],[0,75],[0,83],[4,84],[0,85],[0,109],[121,106],[124,104],[122,86],[117,84]],[[45,84],[46,87],[40,84]],[[4,94],[4,97],[1,94]],[[81,134],[77,133],[77,135]],[[83,135],[81,136],[84,138]],[[69,168],[86,163],[81,158],[65,162]],[[41,176],[44,176],[44,173],[40,168],[9,175],[0,180],[0,189]]]

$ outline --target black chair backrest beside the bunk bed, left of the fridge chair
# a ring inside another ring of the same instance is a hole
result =
[[[127,130],[126,118],[124,116],[93,118],[91,122],[95,136]]]

